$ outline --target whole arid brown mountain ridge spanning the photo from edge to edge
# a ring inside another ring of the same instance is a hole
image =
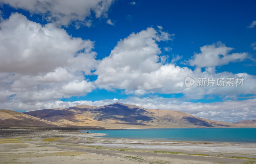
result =
[[[213,121],[186,112],[145,109],[123,103],[100,107],[79,105],[66,109],[43,109],[24,113],[0,110],[0,125],[101,128],[256,127],[254,120],[249,120],[250,124],[247,122]]]

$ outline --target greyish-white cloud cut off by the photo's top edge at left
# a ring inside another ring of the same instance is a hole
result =
[[[107,17],[107,11],[114,0],[0,0],[0,4],[9,4],[14,8],[29,11],[32,14],[40,14],[48,22],[58,25],[69,25],[74,22],[76,27],[80,25],[90,26],[91,14],[96,18]]]

